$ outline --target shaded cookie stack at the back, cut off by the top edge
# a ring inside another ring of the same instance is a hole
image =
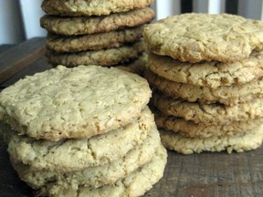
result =
[[[44,0],[47,62],[53,66],[145,66],[142,30],[153,20],[153,0]]]

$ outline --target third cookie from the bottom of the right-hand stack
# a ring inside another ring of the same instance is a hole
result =
[[[201,104],[184,99],[172,99],[158,93],[153,94],[153,105],[166,116],[180,117],[195,123],[229,124],[232,121],[247,121],[263,118],[263,99],[253,99],[235,106]]]

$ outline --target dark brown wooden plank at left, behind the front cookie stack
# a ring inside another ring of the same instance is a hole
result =
[[[35,37],[7,49],[0,54],[0,84],[18,71],[42,57],[45,52],[45,38]]]

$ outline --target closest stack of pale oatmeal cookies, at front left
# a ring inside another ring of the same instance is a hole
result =
[[[0,94],[10,160],[39,196],[139,196],[167,153],[147,81],[115,67],[58,66]]]

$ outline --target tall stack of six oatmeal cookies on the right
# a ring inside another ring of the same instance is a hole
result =
[[[190,154],[244,151],[263,139],[263,22],[184,14],[145,27],[163,145]]]

